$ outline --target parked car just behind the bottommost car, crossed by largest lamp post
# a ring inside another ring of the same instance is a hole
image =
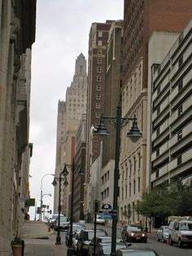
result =
[[[123,242],[116,242],[116,249],[127,248]],[[111,255],[111,243],[98,243],[95,247],[95,256],[110,256]]]

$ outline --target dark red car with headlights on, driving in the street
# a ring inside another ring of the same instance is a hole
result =
[[[121,237],[124,241],[143,241],[147,242],[147,234],[140,226],[128,225],[124,226],[121,231]]]

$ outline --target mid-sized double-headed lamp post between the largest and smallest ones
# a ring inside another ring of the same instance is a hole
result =
[[[68,256],[73,256],[73,249],[72,249],[72,218],[73,218],[73,188],[74,188],[74,174],[76,168],[80,167],[80,170],[77,174],[85,174],[84,171],[81,169],[81,166],[76,166],[74,158],[72,159],[72,165],[65,164],[64,170],[68,172],[67,166],[72,170],[72,195],[71,195],[71,213],[70,213],[70,226],[69,226],[69,241],[68,241]]]

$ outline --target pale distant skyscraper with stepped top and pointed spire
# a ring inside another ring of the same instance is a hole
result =
[[[59,118],[58,127],[63,127],[63,130],[58,129],[58,133],[63,132],[62,137],[57,135],[60,139],[57,143],[58,154],[56,156],[56,162],[60,157],[59,165],[64,163],[71,165],[72,158],[75,157],[75,136],[76,129],[81,121],[82,114],[86,113],[86,102],[87,102],[87,72],[86,72],[86,60],[85,56],[81,53],[76,59],[75,74],[71,86],[68,86],[66,91],[66,102],[60,102],[62,108],[62,118]],[[59,145],[62,149],[59,149]],[[57,168],[57,166],[56,166]],[[62,170],[61,168],[60,170]],[[57,169],[56,169],[57,170]],[[71,193],[72,185],[72,170],[69,169],[68,174],[68,187],[64,188],[63,191],[63,213],[68,214],[69,200],[68,196]],[[55,188],[55,195],[59,196],[58,189]],[[58,198],[55,198],[55,211],[57,210]]]

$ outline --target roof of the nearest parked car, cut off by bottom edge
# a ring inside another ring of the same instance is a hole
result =
[[[154,249],[122,248],[116,250],[116,256],[159,256]]]

